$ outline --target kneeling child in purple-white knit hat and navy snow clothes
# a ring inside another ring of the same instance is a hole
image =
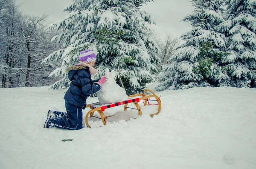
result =
[[[60,129],[82,129],[82,109],[86,107],[86,99],[93,93],[98,92],[107,81],[103,76],[100,80],[92,80],[91,74],[96,74],[93,68],[96,62],[96,54],[91,50],[81,51],[79,64],[67,68],[68,78],[72,81],[67,90],[64,100],[66,112],[48,111],[44,128],[57,127]]]

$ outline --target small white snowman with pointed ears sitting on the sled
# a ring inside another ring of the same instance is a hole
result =
[[[109,72],[109,69],[105,69],[105,76],[108,80],[102,85],[101,90],[97,92],[99,103],[111,104],[119,101],[128,100],[125,89],[120,87],[115,80],[116,73],[114,70]]]

